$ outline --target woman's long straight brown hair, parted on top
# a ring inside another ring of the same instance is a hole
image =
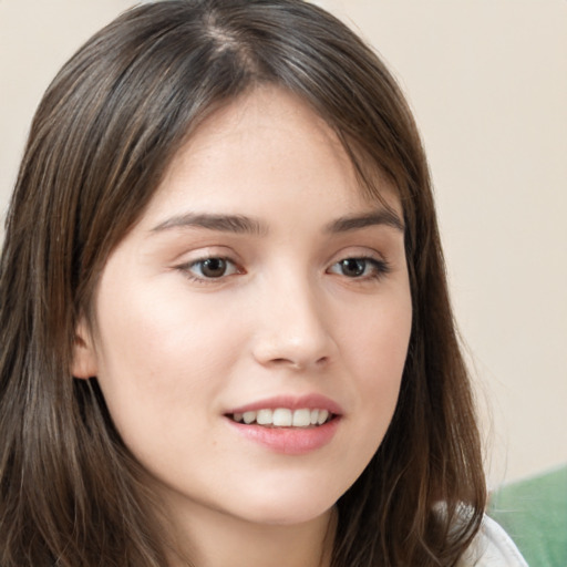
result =
[[[167,565],[143,472],[96,379],[73,380],[81,313],[173,156],[219,106],[261,83],[308,101],[380,198],[404,209],[413,328],[379,451],[338,503],[333,567],[454,565],[485,501],[425,156],[379,58],[300,0],[169,0],[133,9],[61,70],[32,123],[0,274],[0,565]]]

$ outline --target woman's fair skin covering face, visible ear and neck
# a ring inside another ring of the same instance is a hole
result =
[[[401,206],[380,184],[396,215],[307,104],[265,86],[198,127],[107,260],[73,374],[97,377],[199,567],[329,561],[411,329]]]

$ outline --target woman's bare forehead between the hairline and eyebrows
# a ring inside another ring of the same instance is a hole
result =
[[[400,210],[393,185],[372,169],[380,199]],[[377,205],[336,132],[299,96],[257,87],[208,116],[174,156],[151,209],[236,208],[309,197],[346,214]],[[165,214],[165,210],[163,214]]]

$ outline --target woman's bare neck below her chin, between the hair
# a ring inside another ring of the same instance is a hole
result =
[[[266,525],[192,506],[174,518],[172,567],[329,567],[334,512],[301,524]],[[182,558],[183,556],[183,558]]]

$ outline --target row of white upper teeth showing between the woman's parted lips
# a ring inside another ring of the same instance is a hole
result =
[[[336,417],[329,410],[310,410],[307,408],[289,410],[257,410],[244,413],[229,413],[227,417],[245,425],[262,425],[265,427],[318,427]]]

